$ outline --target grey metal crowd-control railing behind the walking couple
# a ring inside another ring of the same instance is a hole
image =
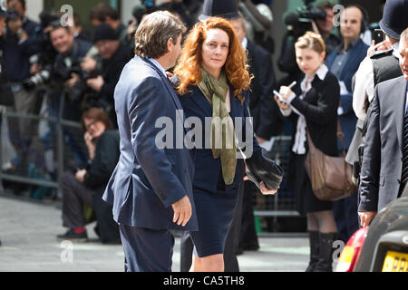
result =
[[[83,131],[81,124],[74,121],[63,120],[63,103],[57,116],[46,116],[46,115],[24,115],[15,112],[3,113],[3,118],[10,120],[15,118],[17,120],[28,119],[35,122],[43,121],[49,124],[49,127],[53,128],[53,162],[55,167],[55,172],[52,178],[35,178],[24,174],[25,169],[20,170],[23,174],[12,174],[7,172],[2,172],[0,170],[0,191],[3,180],[9,180],[14,182],[25,183],[30,186],[46,187],[56,190],[57,197],[62,197],[61,189],[61,178],[63,172],[69,167],[67,163],[72,159],[69,154],[67,156],[67,151],[69,151],[70,146],[66,140],[66,131],[75,132],[76,142],[82,143],[84,149],[86,149],[83,141]],[[41,140],[41,138],[40,138]],[[3,141],[2,141],[3,142]],[[284,180],[275,196],[262,196],[257,195],[257,199],[254,200],[255,210],[254,215],[257,218],[272,218],[274,222],[277,222],[277,218],[283,217],[299,217],[299,214],[295,210],[295,196],[287,186],[287,169],[290,155],[290,136],[278,136],[274,139],[272,149],[268,152],[270,158],[277,161],[277,163],[282,167],[285,172]],[[40,154],[41,153],[36,153]],[[37,159],[45,159],[45,156],[37,156]],[[0,165],[3,165],[5,161],[2,156],[2,150],[0,150]],[[26,166],[27,164],[25,164]]]

